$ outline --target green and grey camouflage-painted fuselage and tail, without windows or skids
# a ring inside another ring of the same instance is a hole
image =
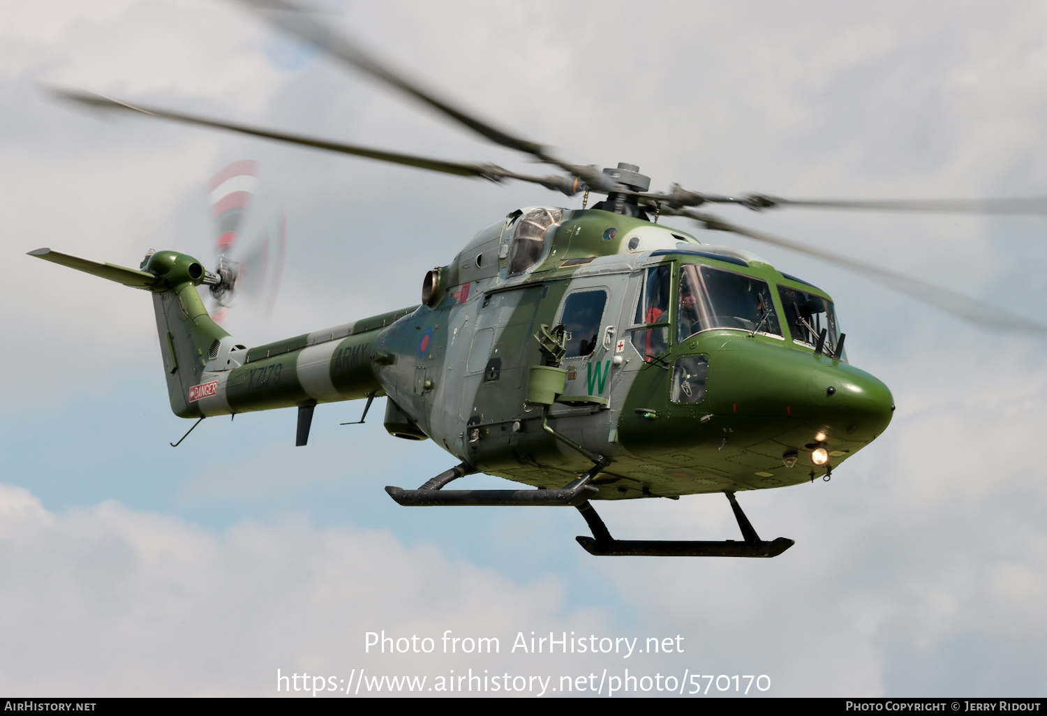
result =
[[[642,326],[637,301],[652,266],[672,272],[670,328],[686,264],[766,282],[778,316],[785,312],[774,287],[828,299],[823,292],[752,254],[597,209],[549,209],[559,221],[548,228],[535,265],[510,274],[514,228],[534,208],[480,231],[438,270],[428,305],[249,350],[207,316],[197,293],[202,270],[191,256],[161,251],[135,271],[34,253],[153,292],[171,407],[183,418],[388,396],[393,434],[431,438],[482,472],[560,488],[592,461],[543,430],[542,406],[527,401],[530,368],[543,364],[535,334],[561,322],[571,295],[602,291],[595,345],[561,362],[567,379],[549,410],[558,433],[606,458],[592,483],[597,498],[804,483],[890,423],[893,400],[882,382],[787,337],[714,329],[677,341],[669,330],[653,359],[627,339]],[[704,399],[673,402],[673,365],[690,356],[708,361]],[[818,446],[831,456],[825,466],[810,460]],[[790,453],[795,466],[783,463]]]

